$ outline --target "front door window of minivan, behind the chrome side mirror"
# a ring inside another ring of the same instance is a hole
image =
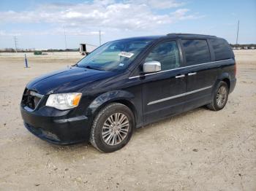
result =
[[[162,42],[151,50],[145,62],[159,61],[161,70],[176,69],[180,66],[180,56],[176,41]]]

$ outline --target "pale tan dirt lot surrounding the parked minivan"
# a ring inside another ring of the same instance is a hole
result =
[[[0,55],[0,190],[256,190],[256,51],[238,50],[238,83],[225,109],[205,108],[135,130],[118,152],[60,147],[23,127],[29,80],[78,53]]]

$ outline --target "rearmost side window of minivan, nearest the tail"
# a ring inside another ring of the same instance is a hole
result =
[[[214,48],[215,61],[222,61],[234,57],[230,45],[224,39],[210,39],[210,41]]]

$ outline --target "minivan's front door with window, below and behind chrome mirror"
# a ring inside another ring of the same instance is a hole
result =
[[[186,79],[181,67],[181,55],[176,40],[159,42],[148,53],[144,63],[158,61],[161,71],[144,75],[143,121],[153,122],[159,118],[182,112]]]

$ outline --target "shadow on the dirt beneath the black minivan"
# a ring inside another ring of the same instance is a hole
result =
[[[136,128],[131,141],[135,141],[135,139],[139,139],[138,136],[140,136],[140,138],[143,137],[143,134],[145,134],[144,136],[146,136],[149,131],[151,132],[152,128],[153,129],[163,128],[167,125],[170,125],[170,122],[172,121],[182,122],[183,120],[186,120],[187,117],[189,116],[198,115],[203,112],[211,112],[211,111],[206,109],[205,106],[202,106],[200,108],[193,109],[189,112],[177,114],[173,117],[167,117],[164,120],[160,120],[158,122],[145,125],[141,128]],[[103,153],[103,152],[99,152],[97,149],[92,147],[90,143],[80,143],[80,144],[61,146],[61,145],[50,144],[42,140],[37,140],[37,146],[39,147],[39,149],[42,149],[42,152],[45,152],[45,155],[51,155],[52,157],[56,156],[61,158],[62,160],[76,160],[80,158],[93,159],[99,156],[105,157],[106,155],[116,156],[116,155],[119,155],[120,153],[124,154],[124,152],[126,152],[125,150],[127,149],[131,149],[131,148],[127,148],[129,147],[129,144],[128,144],[127,147],[124,147],[123,149],[117,152]]]

